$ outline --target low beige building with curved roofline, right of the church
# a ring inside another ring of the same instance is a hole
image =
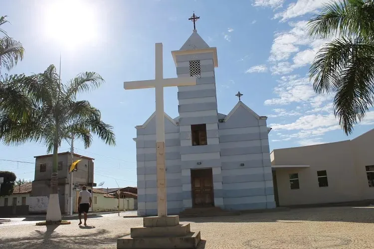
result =
[[[277,206],[374,199],[374,129],[340,142],[274,149]]]

